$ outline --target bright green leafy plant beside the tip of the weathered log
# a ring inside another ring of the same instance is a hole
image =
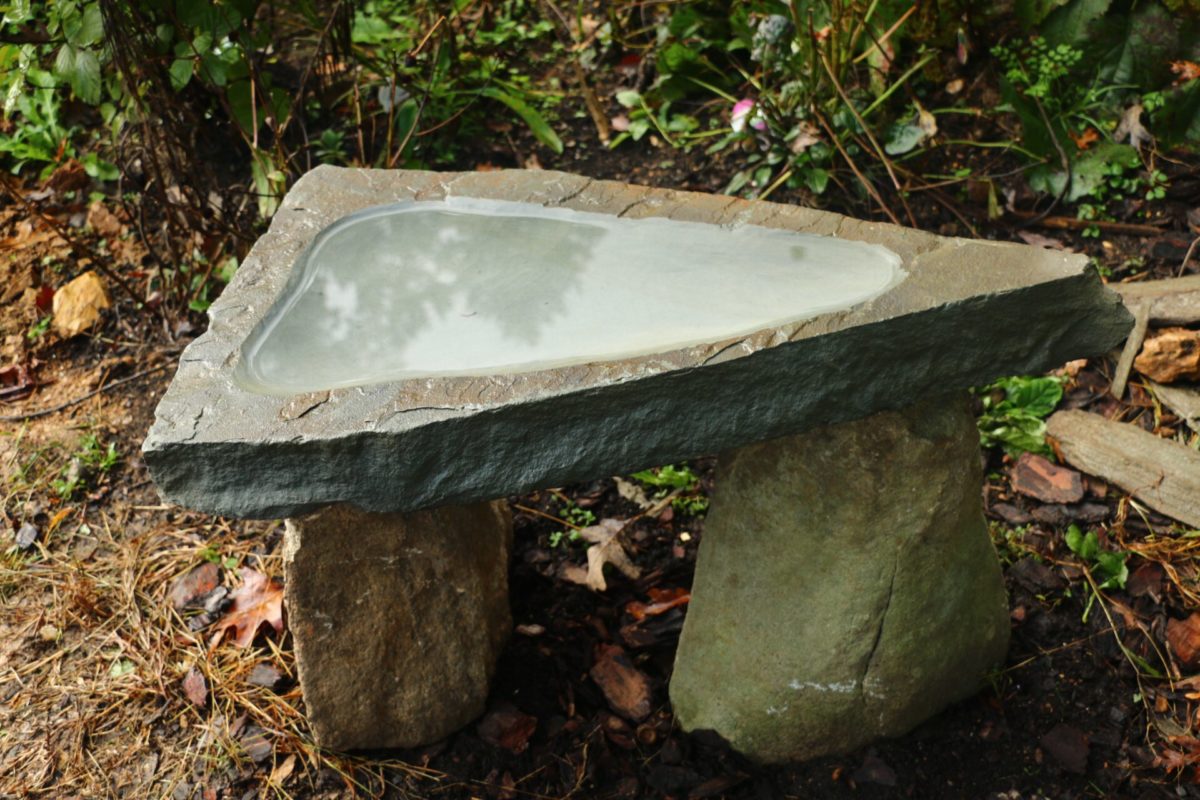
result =
[[[1062,378],[1001,378],[976,390],[983,402],[979,438],[985,447],[1000,445],[1010,456],[1050,455],[1043,421],[1062,399]]]

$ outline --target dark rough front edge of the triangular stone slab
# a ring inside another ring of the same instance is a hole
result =
[[[990,333],[1016,327],[1014,320],[1021,320],[1018,333]],[[338,501],[366,511],[412,511],[631,471],[899,409],[924,396],[1105,353],[1129,324],[1116,294],[1085,272],[703,368],[408,429],[270,443],[156,443],[145,455],[164,498],[212,513],[274,518]],[[936,343],[931,329],[942,331]],[[984,362],[980,353],[990,359]],[[864,357],[875,366],[865,383]]]

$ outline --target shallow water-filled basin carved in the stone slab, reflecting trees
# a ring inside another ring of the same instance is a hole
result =
[[[235,379],[290,395],[614,361],[848,308],[902,277],[886,247],[832,236],[413,200],[312,241]]]

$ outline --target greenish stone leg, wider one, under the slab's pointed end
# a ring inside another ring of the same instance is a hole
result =
[[[1003,663],[1008,607],[954,395],[721,456],[671,702],[760,762],[900,735]]]

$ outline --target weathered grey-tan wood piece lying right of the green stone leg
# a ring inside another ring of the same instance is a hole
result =
[[[1200,452],[1087,411],[1057,411],[1046,432],[1072,465],[1200,528]]]

